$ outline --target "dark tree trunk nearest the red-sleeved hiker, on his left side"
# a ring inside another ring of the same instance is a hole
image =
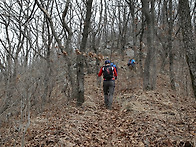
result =
[[[88,29],[90,26],[90,18],[91,18],[91,8],[92,8],[93,0],[87,1],[87,12],[86,18],[84,21],[84,29],[82,36],[82,43],[80,46],[80,51],[85,52],[86,43],[88,39]],[[81,106],[84,103],[84,56],[82,54],[77,56],[77,105]]]

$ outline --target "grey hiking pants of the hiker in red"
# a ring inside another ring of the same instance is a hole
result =
[[[115,81],[103,81],[104,102],[107,109],[112,108]]]

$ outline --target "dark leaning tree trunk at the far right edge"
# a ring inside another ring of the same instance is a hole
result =
[[[186,59],[189,66],[194,96],[196,98],[196,44],[193,37],[188,0],[179,0],[179,14],[184,47],[186,48]]]

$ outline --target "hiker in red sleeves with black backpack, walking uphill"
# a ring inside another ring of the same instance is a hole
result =
[[[98,76],[103,74],[103,92],[104,92],[104,103],[106,109],[112,108],[113,93],[115,88],[115,79],[117,79],[116,68],[110,65],[110,60],[105,61],[105,65],[101,67]]]

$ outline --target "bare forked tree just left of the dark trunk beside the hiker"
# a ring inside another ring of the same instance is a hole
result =
[[[76,94],[76,89],[75,89],[76,84],[75,84],[75,76],[74,76],[75,73],[74,73],[73,68],[70,68],[74,65],[74,60],[71,56],[73,48],[70,45],[73,33],[71,30],[71,27],[69,27],[68,24],[66,23],[66,16],[68,13],[68,8],[70,6],[70,1],[68,0],[66,2],[65,8],[62,11],[62,13],[60,13],[59,10],[57,9],[58,17],[60,17],[60,22],[61,22],[61,26],[62,26],[62,30],[60,32],[64,32],[63,37],[67,36],[66,39],[64,39],[64,40],[66,40],[65,44],[63,44],[63,40],[60,38],[61,34],[58,34],[58,32],[55,30],[54,20],[50,16],[49,12],[45,8],[43,8],[43,6],[38,1],[36,1],[36,4],[41,9],[41,11],[45,14],[47,20],[49,21],[51,33],[54,36],[61,53],[64,55],[65,62],[67,63],[66,64],[67,71],[69,71],[69,79],[68,80],[70,80],[71,85],[72,85],[72,96],[71,97],[74,98],[75,94]],[[50,11],[50,13],[52,13],[52,11]],[[67,56],[67,54],[69,54],[69,56]]]

